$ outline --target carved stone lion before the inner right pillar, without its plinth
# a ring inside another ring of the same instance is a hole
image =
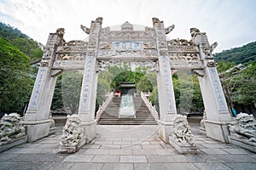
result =
[[[173,137],[182,144],[193,144],[187,116],[177,115],[173,120]]]

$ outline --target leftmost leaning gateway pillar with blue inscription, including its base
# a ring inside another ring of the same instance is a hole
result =
[[[64,29],[58,29],[50,33],[44,55],[41,61],[36,82],[25,115],[26,133],[28,142],[41,139],[49,135],[49,110],[55,89],[56,77],[52,77],[55,71],[51,66],[55,60],[55,50],[63,40]]]

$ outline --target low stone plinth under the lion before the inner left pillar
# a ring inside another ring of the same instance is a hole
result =
[[[59,153],[61,154],[73,154],[78,151],[84,144],[86,138],[80,139],[79,144],[60,144]]]

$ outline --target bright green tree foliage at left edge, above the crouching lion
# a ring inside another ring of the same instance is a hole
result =
[[[0,112],[19,112],[32,92],[29,57],[0,37]]]

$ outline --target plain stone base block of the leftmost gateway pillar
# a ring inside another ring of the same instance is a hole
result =
[[[49,135],[50,120],[24,122],[26,124],[27,141],[33,142]]]

